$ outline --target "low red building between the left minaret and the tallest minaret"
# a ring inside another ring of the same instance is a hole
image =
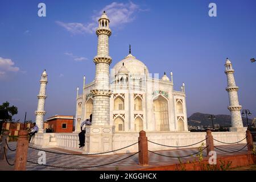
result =
[[[66,124],[66,129],[62,128],[62,124]],[[48,121],[48,127],[53,125],[53,133],[72,133],[73,132],[73,119],[52,119]]]

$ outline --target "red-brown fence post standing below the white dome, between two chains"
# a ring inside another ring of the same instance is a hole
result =
[[[148,165],[148,147],[146,132],[141,130],[139,132],[139,164],[142,166]]]

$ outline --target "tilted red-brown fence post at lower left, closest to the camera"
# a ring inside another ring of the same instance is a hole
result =
[[[16,147],[15,171],[26,171],[28,150],[28,132],[27,130],[19,130],[19,138]]]

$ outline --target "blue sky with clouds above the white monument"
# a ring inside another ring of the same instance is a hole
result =
[[[46,17],[38,4],[46,3]],[[209,3],[217,17],[208,15]],[[94,78],[94,24],[109,12],[113,67],[129,51],[151,73],[185,82],[188,115],[229,114],[224,64],[233,63],[243,109],[256,115],[256,1],[3,1],[0,2],[0,102],[34,121],[39,79],[48,73],[46,118],[75,114],[76,87]],[[118,16],[117,16],[118,14]]]

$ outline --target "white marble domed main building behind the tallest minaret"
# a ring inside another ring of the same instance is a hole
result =
[[[77,94],[76,127],[93,113],[94,82]],[[150,74],[146,65],[129,53],[110,69],[109,123],[115,133],[144,131],[188,131],[184,84],[174,90],[172,73]]]

